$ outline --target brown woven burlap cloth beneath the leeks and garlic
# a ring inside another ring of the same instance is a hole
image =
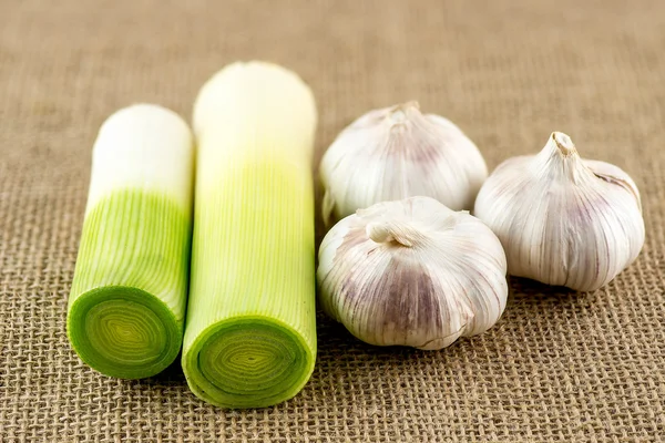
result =
[[[178,364],[101,377],[64,333],[96,131],[140,101],[188,120],[211,74],[254,58],[311,85],[319,155],[412,99],[491,168],[569,133],[637,182],[642,255],[592,293],[512,281],[498,326],[442,351],[372,348],[319,316],[311,380],[265,410],[203,403]],[[661,0],[0,0],[0,441],[665,441],[664,141]]]

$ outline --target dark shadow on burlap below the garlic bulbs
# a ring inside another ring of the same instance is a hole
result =
[[[359,367],[371,368],[378,377],[389,374],[393,379],[407,377],[415,370],[444,369],[451,374],[456,369],[463,371],[472,360],[483,360],[481,364],[489,368],[494,359],[510,358],[511,349],[530,352],[531,344],[525,338],[540,331],[543,324],[561,328],[565,327],[566,319],[587,316],[600,296],[602,291],[577,292],[511,277],[507,307],[497,324],[479,336],[462,337],[448,348],[432,351],[367,344],[319,311],[315,374],[318,371],[321,378],[334,374],[338,380],[351,382],[358,377]]]

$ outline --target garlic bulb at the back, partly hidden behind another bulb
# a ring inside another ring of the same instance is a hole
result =
[[[344,130],[319,167],[323,217],[339,219],[379,202],[413,196],[471,209],[488,176],[478,147],[452,122],[417,102],[370,111]]]

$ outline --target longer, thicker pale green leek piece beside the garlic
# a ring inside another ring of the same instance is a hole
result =
[[[182,363],[192,391],[262,408],[300,391],[316,359],[311,91],[234,63],[201,90],[192,284]]]

